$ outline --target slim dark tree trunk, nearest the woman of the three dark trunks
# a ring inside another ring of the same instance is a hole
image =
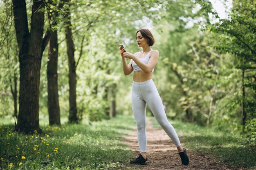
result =
[[[69,2],[69,0],[66,0]],[[67,56],[68,56],[68,66],[69,66],[69,86],[70,86],[70,114],[69,114],[69,122],[70,123],[77,123],[77,108],[76,108],[76,63],[74,59],[74,42],[72,39],[72,29],[71,29],[71,21],[70,21],[70,11],[67,9],[65,19],[65,36],[67,42]]]

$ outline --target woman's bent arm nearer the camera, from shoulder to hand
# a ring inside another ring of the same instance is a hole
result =
[[[157,60],[159,58],[159,51],[154,50],[150,53],[150,59],[148,61],[148,64],[141,62],[139,58],[137,58],[132,53],[124,52],[124,57],[132,59],[139,66],[139,68],[141,68],[141,70],[145,72],[150,72],[157,64]]]

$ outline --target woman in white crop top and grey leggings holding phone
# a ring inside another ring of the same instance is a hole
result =
[[[125,49],[119,47],[125,75],[133,73],[132,83],[132,112],[137,124],[137,138],[139,143],[139,157],[130,161],[132,164],[145,164],[148,160],[146,157],[146,104],[157,122],[162,126],[164,131],[172,139],[177,147],[183,165],[189,164],[189,157],[186,149],[180,144],[180,140],[173,126],[168,122],[162,100],[158,94],[157,88],[152,80],[153,72],[159,52],[151,49],[155,43],[153,35],[148,29],[140,29],[136,33],[136,40],[141,52],[135,54],[125,52]],[[126,58],[131,59],[127,65]]]

